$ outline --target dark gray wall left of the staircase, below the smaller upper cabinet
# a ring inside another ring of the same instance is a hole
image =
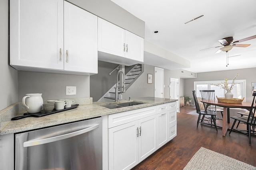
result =
[[[98,74],[90,76],[90,94],[93,102],[97,102],[114,84],[116,84],[115,70],[111,75],[110,72],[114,70],[119,64],[98,61]]]

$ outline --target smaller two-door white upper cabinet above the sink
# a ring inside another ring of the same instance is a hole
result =
[[[98,51],[111,54],[101,54],[99,60],[125,65],[136,64],[144,61],[144,39],[98,18]]]

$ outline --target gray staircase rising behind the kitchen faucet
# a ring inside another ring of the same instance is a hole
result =
[[[139,78],[139,76],[144,72],[144,64],[135,64],[134,67],[124,76],[124,84],[125,84],[125,90],[127,90],[132,84]],[[118,86],[122,86],[120,84],[120,80],[118,82]],[[122,88],[120,89],[122,91]],[[118,88],[118,94],[120,94],[119,88]],[[116,84],[98,100],[100,101],[115,101],[116,96]],[[119,97],[119,95],[118,95]]]

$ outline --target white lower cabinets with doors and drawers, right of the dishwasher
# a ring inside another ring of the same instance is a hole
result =
[[[163,104],[108,115],[104,123],[108,135],[103,138],[108,140],[108,148],[103,147],[108,153],[108,163],[103,164],[108,168],[104,170],[129,170],[175,137],[176,107],[171,108],[175,115],[171,123],[174,117],[168,108]]]

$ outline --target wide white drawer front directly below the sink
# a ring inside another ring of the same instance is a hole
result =
[[[156,106],[145,107],[131,111],[124,111],[108,115],[108,128],[119,126],[125,123],[136,121],[156,114]]]

